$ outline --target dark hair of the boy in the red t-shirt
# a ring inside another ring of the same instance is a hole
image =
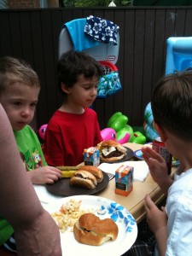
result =
[[[57,64],[59,90],[61,90],[61,83],[66,84],[67,87],[73,87],[81,74],[84,74],[84,78],[96,76],[99,79],[102,75],[102,68],[94,58],[83,52],[69,50],[61,55]],[[63,91],[61,92],[64,94]]]

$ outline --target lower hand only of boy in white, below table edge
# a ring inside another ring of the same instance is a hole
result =
[[[160,229],[166,229],[167,215],[165,209],[160,209],[154,204],[149,195],[145,196],[145,210],[147,213],[148,226],[152,232],[157,233]]]

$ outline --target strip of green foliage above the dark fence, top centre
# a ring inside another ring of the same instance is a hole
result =
[[[63,0],[65,7],[108,7],[112,0]],[[113,0],[116,6],[129,6],[131,0]]]

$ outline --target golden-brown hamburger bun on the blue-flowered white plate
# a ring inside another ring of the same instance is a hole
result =
[[[92,246],[115,240],[118,232],[118,226],[112,218],[100,219],[93,213],[84,213],[73,226],[75,239]]]

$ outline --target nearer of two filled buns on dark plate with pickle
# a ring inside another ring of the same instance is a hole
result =
[[[84,189],[95,189],[96,177],[87,171],[77,171],[70,179],[70,185],[84,187]]]

